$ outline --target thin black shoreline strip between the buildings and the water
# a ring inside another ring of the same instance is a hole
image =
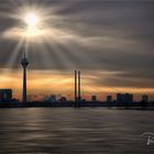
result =
[[[0,109],[4,108],[108,108],[110,110],[154,110],[154,106],[139,106],[140,103],[133,103],[125,106],[108,106],[106,102],[81,102],[76,105],[74,101],[70,102],[0,102]]]

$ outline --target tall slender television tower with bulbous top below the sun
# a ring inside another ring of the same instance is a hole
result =
[[[25,57],[25,51],[23,53],[23,58],[21,59],[21,65],[23,67],[23,91],[22,91],[22,102],[26,103],[26,67],[29,65],[29,61]]]

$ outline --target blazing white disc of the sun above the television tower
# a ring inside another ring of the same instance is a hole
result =
[[[38,25],[40,18],[35,12],[29,12],[24,16],[24,22],[26,23],[28,28],[30,29],[36,29]]]

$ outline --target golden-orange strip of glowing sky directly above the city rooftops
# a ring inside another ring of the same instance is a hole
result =
[[[19,64],[20,65],[20,64]],[[86,72],[87,73],[87,72]],[[119,87],[96,87],[92,81],[89,80],[88,75],[85,72],[81,72],[81,96],[82,98],[90,100],[92,95],[97,95],[99,100],[106,100],[106,96],[112,95],[116,98],[116,94],[133,94],[134,100],[141,100],[142,95],[148,95],[150,99],[153,100],[153,89],[151,92],[147,92],[146,89],[138,88],[119,88]],[[23,88],[23,73],[22,68],[15,70],[15,73],[10,73],[11,76],[1,78],[1,88],[11,88],[13,89],[13,97],[22,100],[22,88]],[[14,75],[14,78],[12,77]],[[36,100],[42,100],[44,96],[57,95],[65,96],[68,99],[74,100],[74,72],[67,74],[65,73],[62,76],[62,72],[54,72],[54,74],[43,74],[40,72],[29,70],[28,69],[28,96],[37,96]],[[45,78],[44,78],[45,76]],[[35,80],[35,81],[33,81]],[[6,84],[8,82],[8,85]],[[54,85],[53,85],[54,82]],[[11,86],[10,86],[11,85]],[[58,86],[57,86],[58,85]],[[59,87],[62,86],[61,90]],[[14,87],[14,88],[13,88]],[[33,88],[32,88],[33,87]],[[42,87],[45,87],[42,89]]]

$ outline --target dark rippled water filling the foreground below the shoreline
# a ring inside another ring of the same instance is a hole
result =
[[[0,109],[0,153],[154,154],[154,111]]]

